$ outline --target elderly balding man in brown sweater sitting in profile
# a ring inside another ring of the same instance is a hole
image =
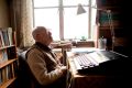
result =
[[[52,33],[44,26],[32,32],[35,44],[28,51],[28,64],[35,79],[44,88],[65,88],[66,66],[62,66],[50,45]]]

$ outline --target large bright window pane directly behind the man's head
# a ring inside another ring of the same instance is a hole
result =
[[[52,31],[54,40],[59,40],[58,9],[35,9],[35,26],[44,25]]]

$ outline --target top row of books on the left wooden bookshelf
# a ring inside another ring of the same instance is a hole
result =
[[[0,47],[13,45],[13,37],[12,28],[0,28]]]

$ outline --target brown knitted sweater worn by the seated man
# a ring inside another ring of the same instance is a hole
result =
[[[26,56],[31,72],[41,85],[51,85],[62,77],[58,59],[50,47],[35,43]]]

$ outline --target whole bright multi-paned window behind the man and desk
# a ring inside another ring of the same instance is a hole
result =
[[[86,13],[77,15],[78,3]],[[89,4],[96,6],[96,0],[34,0],[34,26],[52,29],[54,40],[92,40],[96,9]]]

